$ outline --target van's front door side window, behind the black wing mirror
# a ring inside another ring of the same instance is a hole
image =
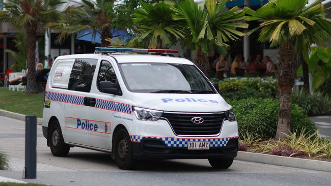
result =
[[[117,83],[115,71],[112,64],[105,60],[101,61],[100,70],[98,74],[98,81],[97,81],[98,88],[99,88],[99,83],[101,81],[111,81],[114,84],[114,86]]]

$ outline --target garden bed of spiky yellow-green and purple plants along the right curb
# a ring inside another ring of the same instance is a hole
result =
[[[331,162],[331,141],[320,138],[317,132],[291,133],[286,139],[261,139],[249,133],[241,135],[239,150],[275,156]]]

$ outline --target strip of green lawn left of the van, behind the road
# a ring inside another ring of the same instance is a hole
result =
[[[0,88],[0,109],[42,118],[44,94],[25,94]]]

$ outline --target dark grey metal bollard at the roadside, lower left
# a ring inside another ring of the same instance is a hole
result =
[[[37,178],[37,116],[25,116],[25,167],[24,178]]]

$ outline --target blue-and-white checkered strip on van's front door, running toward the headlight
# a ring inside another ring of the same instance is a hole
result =
[[[107,109],[107,110],[114,110],[117,112],[123,112],[127,114],[131,114],[131,106],[125,103],[118,103],[113,101],[107,100],[96,100],[95,107]]]

